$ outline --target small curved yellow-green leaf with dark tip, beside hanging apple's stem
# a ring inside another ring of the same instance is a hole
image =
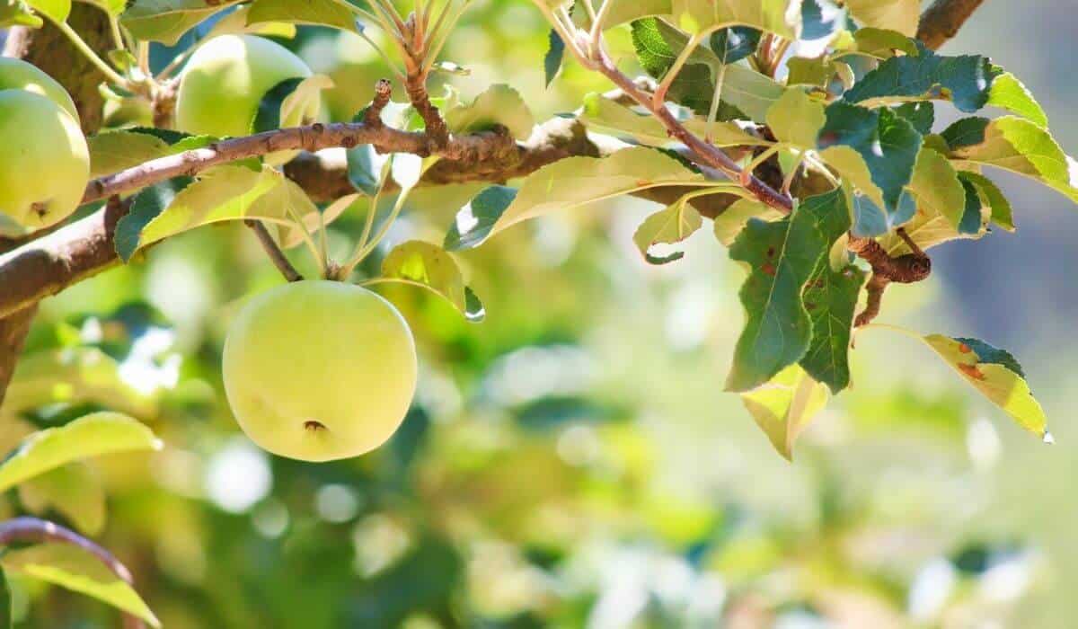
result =
[[[382,262],[382,276],[421,284],[448,300],[468,320],[483,318],[483,305],[474,293],[468,295],[456,260],[438,245],[423,241],[397,245]]]

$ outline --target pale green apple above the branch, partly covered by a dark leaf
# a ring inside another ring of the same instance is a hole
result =
[[[223,35],[198,46],[176,95],[176,126],[192,134],[245,136],[251,133],[259,102],[274,85],[305,79],[310,68],[288,49],[252,35]],[[298,126],[318,115],[317,95],[295,108],[281,126]],[[273,153],[284,163],[295,151]]]

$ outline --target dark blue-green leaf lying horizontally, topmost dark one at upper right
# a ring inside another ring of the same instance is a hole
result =
[[[980,55],[940,56],[917,44],[916,55],[892,57],[865,74],[842,98],[863,107],[910,99],[946,98],[959,111],[984,107],[998,66]]]

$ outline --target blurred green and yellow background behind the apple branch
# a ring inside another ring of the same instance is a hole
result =
[[[1070,1],[986,2],[944,51],[1013,71],[1073,152],[1076,31]],[[632,69],[627,37],[613,40]],[[335,80],[334,120],[385,73],[353,35],[301,27],[288,45]],[[478,0],[444,55],[471,73],[439,81],[466,98],[509,83],[537,120],[609,88],[571,63],[544,88],[545,46],[529,3]],[[1011,350],[1054,447],[923,345],[869,330],[853,389],[787,463],[721,392],[742,272],[709,230],[683,260],[645,264],[631,236],[653,206],[635,200],[535,220],[460,255],[482,324],[386,289],[416,333],[421,377],[401,430],[369,455],[274,457],[230,416],[219,367],[230,318],[280,282],[239,225],[172,238],[44,302],[0,441],[97,408],[165,440],[78,464],[80,482],[105,490],[82,493],[107,504],[103,523],[45,512],[103,525],[96,538],[167,629],[1074,627],[1078,216],[1045,188],[1000,181],[1019,232],[939,247],[932,278],[892,288],[881,320]],[[416,192],[382,252],[441,242],[475,190]],[[361,219],[332,224],[338,256]],[[89,599],[13,588],[19,627],[118,621]]]

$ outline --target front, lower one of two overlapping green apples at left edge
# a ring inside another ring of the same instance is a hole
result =
[[[0,232],[67,218],[88,180],[89,150],[74,119],[40,94],[0,91]]]

